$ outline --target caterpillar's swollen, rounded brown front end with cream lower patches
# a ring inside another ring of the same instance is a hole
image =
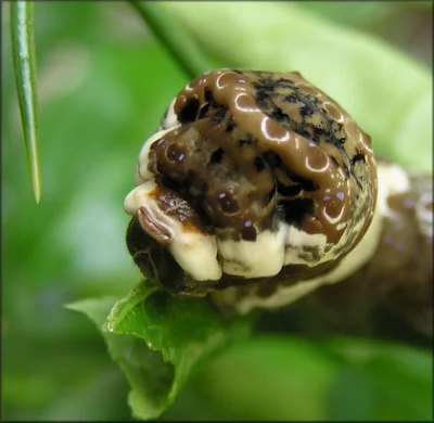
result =
[[[375,207],[371,142],[298,73],[220,69],[174,99],[141,149],[131,256],[179,295],[332,271]]]

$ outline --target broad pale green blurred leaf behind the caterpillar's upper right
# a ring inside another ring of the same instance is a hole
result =
[[[298,70],[348,111],[376,154],[432,171],[432,76],[406,54],[294,2],[162,4],[222,67]]]

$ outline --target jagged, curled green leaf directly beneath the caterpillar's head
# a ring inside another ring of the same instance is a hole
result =
[[[87,299],[68,308],[101,328],[113,298]],[[157,418],[188,379],[217,351],[245,338],[252,319],[229,319],[203,298],[175,298],[144,283],[116,303],[103,324],[110,355],[131,386],[138,419]]]

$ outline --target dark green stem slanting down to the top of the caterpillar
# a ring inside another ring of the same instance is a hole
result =
[[[174,56],[190,79],[212,69],[201,50],[177,26],[173,17],[165,13],[158,2],[130,1],[130,4],[139,12],[155,37]]]

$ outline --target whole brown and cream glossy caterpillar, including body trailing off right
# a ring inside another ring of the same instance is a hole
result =
[[[188,84],[124,207],[136,265],[175,295],[246,313],[388,279],[391,302],[432,332],[431,175],[375,161],[371,138],[297,72]]]

